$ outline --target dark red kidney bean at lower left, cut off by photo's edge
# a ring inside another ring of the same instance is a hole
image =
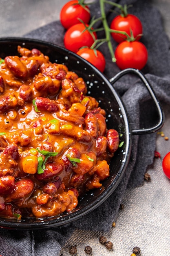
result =
[[[0,196],[8,195],[15,187],[15,178],[13,176],[3,176],[0,178]]]

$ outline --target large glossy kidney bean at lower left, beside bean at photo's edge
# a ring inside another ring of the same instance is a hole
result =
[[[15,187],[10,195],[5,198],[6,202],[12,202],[20,198],[26,197],[34,189],[34,183],[30,179],[22,179],[15,182]]]

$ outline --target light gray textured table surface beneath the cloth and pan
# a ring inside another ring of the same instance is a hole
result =
[[[67,0],[0,0],[0,37],[22,36],[29,31],[59,19],[62,5]],[[170,0],[152,0],[163,15],[165,31],[170,37]],[[19,10],[19,11],[18,11]],[[162,130],[170,137],[170,114],[164,107],[166,122]],[[157,150],[163,157],[170,151],[169,141],[157,137]],[[148,170],[151,182],[128,190],[123,200],[124,209],[119,211],[116,226],[106,235],[113,242],[113,251],[101,246],[99,233],[77,230],[66,242],[62,255],[75,242],[77,255],[85,255],[84,246],[93,247],[93,256],[130,256],[132,248],[141,248],[141,256],[170,256],[170,180],[164,175],[162,159],[155,159]]]

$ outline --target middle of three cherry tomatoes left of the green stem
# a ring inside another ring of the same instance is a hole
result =
[[[88,27],[88,25],[86,24]],[[91,33],[86,29],[85,25],[83,23],[73,25],[70,27],[65,35],[64,35],[64,45],[66,49],[77,52],[81,47],[87,46],[91,47],[94,43],[94,38],[97,39],[96,32],[93,32],[93,36]]]

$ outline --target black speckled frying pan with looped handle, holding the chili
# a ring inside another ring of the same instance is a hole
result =
[[[108,81],[104,74],[99,72],[95,67],[93,67],[93,65],[76,54],[54,44],[25,38],[1,38],[0,57],[4,58],[9,55],[18,55],[18,45],[28,49],[37,48],[43,54],[49,56],[51,62],[63,63],[70,71],[74,71],[78,76],[82,77],[87,83],[88,94],[95,97],[95,99],[99,101],[99,106],[106,110],[107,128],[116,129],[119,134],[122,134],[121,141],[124,141],[124,145],[117,150],[115,156],[110,162],[110,177],[103,181],[101,188],[89,191],[82,198],[79,198],[79,203],[76,209],[71,213],[62,213],[60,216],[44,219],[27,218],[22,219],[21,222],[17,222],[17,220],[13,219],[0,218],[0,226],[9,229],[45,229],[58,227],[73,220],[77,220],[89,213],[102,204],[102,202],[104,202],[113,193],[124,175],[130,159],[131,136],[148,134],[159,130],[164,121],[163,111],[149,82],[139,70],[123,70]],[[132,130],[130,127],[126,108],[113,87],[113,83],[121,78],[121,76],[128,73],[136,74],[144,82],[144,85],[155,102],[158,121],[154,127],[138,130]]]

